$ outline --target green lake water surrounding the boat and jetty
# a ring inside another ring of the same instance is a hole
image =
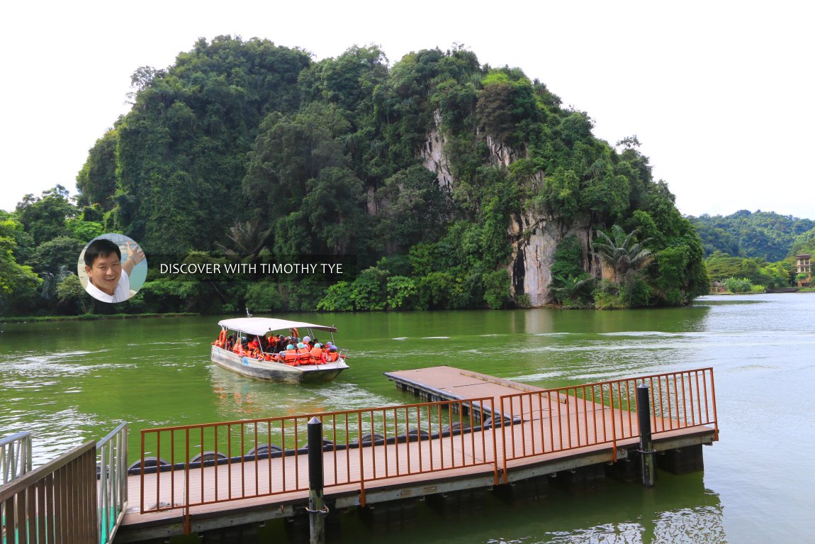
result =
[[[815,294],[289,317],[337,325],[351,368],[319,386],[232,374],[209,362],[220,316],[0,324],[0,436],[33,431],[42,463],[126,421],[135,459],[143,428],[416,402],[390,370],[455,365],[555,387],[712,366],[720,441],[704,448],[703,474],[512,504],[488,495],[447,515],[423,503],[396,531],[349,514],[329,542],[815,542]]]

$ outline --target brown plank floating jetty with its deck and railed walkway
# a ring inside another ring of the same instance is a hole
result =
[[[494,489],[636,457],[632,389],[640,383],[653,392],[654,449],[675,452],[665,457],[679,458],[677,471],[700,470],[701,444],[718,439],[711,369],[551,390],[448,366],[386,375],[428,402],[314,414],[331,442],[323,453],[324,496],[333,511]],[[143,431],[143,450],[169,452],[175,464],[129,476],[117,542],[302,514],[308,456],[297,441],[310,417]],[[281,446],[297,445],[245,456],[247,446],[271,444],[271,436]],[[219,464],[187,462],[190,451],[218,451],[225,443]],[[179,444],[184,453],[177,455]]]

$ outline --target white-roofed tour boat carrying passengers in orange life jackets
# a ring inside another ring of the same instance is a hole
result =
[[[334,326],[315,325],[304,321],[289,321],[271,317],[236,317],[218,321],[218,325],[221,327],[221,333],[218,336],[218,341],[212,345],[212,361],[218,366],[249,378],[280,383],[330,382],[348,368],[348,365],[346,365],[347,350],[344,349],[337,352],[337,360],[332,362],[294,366],[276,360],[276,356],[267,354],[262,349],[260,350],[260,356],[247,356],[232,352],[222,346],[223,340],[228,338],[230,334],[235,334],[236,338],[242,340],[242,345],[246,346],[247,341],[251,342],[252,338],[266,336],[270,332],[296,337],[301,335],[305,337],[307,335],[315,338],[315,331],[329,333],[333,344],[333,333],[337,332],[337,327]]]

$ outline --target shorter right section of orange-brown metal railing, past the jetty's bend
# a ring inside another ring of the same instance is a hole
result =
[[[503,472],[507,462],[546,453],[617,443],[639,436],[637,386],[650,387],[652,434],[711,426],[718,440],[713,369],[558,387],[501,396]]]

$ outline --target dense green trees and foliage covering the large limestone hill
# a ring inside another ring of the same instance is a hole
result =
[[[707,292],[702,243],[637,138],[595,138],[588,113],[472,51],[417,51],[389,67],[375,46],[315,62],[218,37],[167,69],[138,69],[133,86],[130,113],[77,175],[76,204],[55,188],[0,218],[0,312],[86,311],[70,273],[77,246],[109,231],[148,256],[354,254],[360,270],[335,285],[148,276],[117,311],[522,306],[513,248],[546,223],[587,239],[636,231],[628,247],[649,251],[598,282],[600,257],[572,244],[555,255],[550,300],[681,304]]]

